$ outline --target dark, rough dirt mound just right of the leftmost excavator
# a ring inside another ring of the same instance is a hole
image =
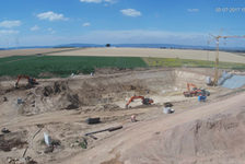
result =
[[[27,91],[23,103],[18,107],[19,114],[28,116],[51,110],[78,109],[80,98],[75,91],[69,89],[67,81],[56,81]]]

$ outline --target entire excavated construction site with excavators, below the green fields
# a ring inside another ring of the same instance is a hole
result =
[[[0,163],[243,164],[244,77],[218,68],[2,77]]]

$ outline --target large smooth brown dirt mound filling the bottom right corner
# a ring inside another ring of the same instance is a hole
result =
[[[245,161],[245,113],[219,114],[156,132],[135,145],[133,163],[242,164]]]

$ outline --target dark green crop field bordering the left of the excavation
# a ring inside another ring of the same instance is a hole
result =
[[[90,73],[95,68],[133,69],[148,67],[137,57],[74,57],[74,56],[19,56],[0,59],[0,77],[28,74],[38,77],[49,72],[58,77],[71,73]]]

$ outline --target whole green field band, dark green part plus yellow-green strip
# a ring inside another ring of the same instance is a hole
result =
[[[94,72],[96,68],[213,68],[213,66],[214,62],[212,61],[168,58],[13,56],[0,58],[0,77],[15,77],[18,74],[27,74],[36,78],[68,77],[71,73],[86,74]],[[245,65],[243,63],[220,62],[219,67],[245,70]]]

